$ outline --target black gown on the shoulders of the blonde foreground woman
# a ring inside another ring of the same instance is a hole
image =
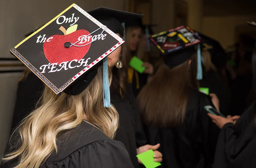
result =
[[[15,142],[14,142],[15,143]],[[58,153],[53,152],[41,168],[132,168],[132,162],[124,145],[110,139],[101,130],[87,122],[58,137]],[[8,145],[5,154],[11,152]],[[11,168],[14,160],[1,165]]]

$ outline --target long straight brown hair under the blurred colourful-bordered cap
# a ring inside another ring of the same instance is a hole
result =
[[[171,70],[167,65],[161,65],[154,78],[141,90],[137,103],[145,124],[172,127],[183,122],[189,88],[198,89],[196,55],[191,60],[190,66],[187,60]]]

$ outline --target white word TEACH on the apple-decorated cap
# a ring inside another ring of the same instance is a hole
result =
[[[61,71],[62,69],[63,70],[68,70],[68,69],[73,69],[73,68],[78,68],[78,67],[80,67],[80,66],[83,66],[83,67],[85,67],[85,66],[87,66],[88,64],[88,60],[89,60],[90,58],[88,58],[86,61],[84,61],[84,59],[80,59],[79,61],[77,61],[76,59],[74,59],[74,60],[72,60],[72,61],[67,61],[67,62],[62,62],[62,63],[60,63],[59,64],[59,66],[57,67],[57,65],[58,65],[58,62],[56,62],[56,63],[49,63],[49,64],[47,64],[47,65],[42,65],[41,67],[40,67],[40,69],[42,70],[42,72],[41,73],[45,73],[46,72],[46,68],[47,69],[50,69],[50,71],[49,72],[47,72],[47,73],[51,73],[51,72],[59,72],[59,71]]]

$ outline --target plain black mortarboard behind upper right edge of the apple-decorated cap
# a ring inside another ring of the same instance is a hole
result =
[[[142,14],[125,12],[105,7],[92,9],[87,11],[87,13],[99,20],[102,24],[106,25],[113,32],[119,33],[122,36],[124,36],[124,28],[122,23],[125,23],[125,25],[129,25],[131,23],[136,24],[137,20],[143,17]]]

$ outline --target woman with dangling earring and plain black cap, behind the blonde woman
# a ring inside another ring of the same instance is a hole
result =
[[[118,36],[124,36],[124,28],[121,23],[136,20],[141,17],[140,14],[119,11],[100,7],[88,11],[97,20],[108,26]],[[126,45],[122,45],[108,56],[109,67],[113,73],[113,81],[110,87],[111,103],[115,106],[119,114],[119,128],[115,140],[122,142],[135,168],[139,168],[141,163],[136,155],[153,149],[155,152],[155,161],[162,161],[162,154],[156,149],[159,144],[145,145],[146,137],[143,131],[136,100],[132,92],[131,85],[127,83],[127,72],[129,57],[126,55]]]

